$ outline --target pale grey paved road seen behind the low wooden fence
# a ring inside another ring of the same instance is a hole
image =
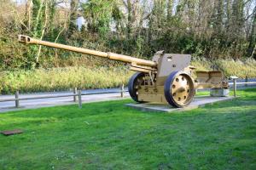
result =
[[[231,81],[230,81],[231,82]],[[237,82],[244,82],[244,80],[237,80]],[[256,82],[256,78],[249,79],[248,82]],[[255,84],[248,84],[247,87],[255,87]],[[232,86],[230,86],[232,88]],[[237,85],[237,88],[245,88],[244,85]],[[125,88],[127,90],[127,88]],[[115,94],[95,94],[95,93],[110,93],[117,92],[119,88],[110,88],[110,89],[90,89],[83,90],[82,94],[92,94],[82,96],[83,103],[85,102],[94,102],[94,101],[104,101],[111,99],[121,99],[119,93]],[[38,96],[47,96],[47,95],[62,95],[62,94],[73,94],[72,92],[49,92],[49,93],[37,93],[37,94],[20,94],[20,98],[32,98]],[[128,93],[125,93],[125,97],[129,97]],[[14,99],[14,95],[0,95],[0,99]],[[45,106],[54,106],[54,105],[70,105],[75,104],[73,102],[73,97],[61,97],[61,98],[49,98],[49,99],[30,99],[20,101],[20,109],[29,109],[29,108],[38,108]],[[0,112],[5,111],[15,111],[15,102],[0,102]]]

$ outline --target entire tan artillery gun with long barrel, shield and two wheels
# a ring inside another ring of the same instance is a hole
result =
[[[165,103],[174,107],[189,105],[199,88],[228,88],[221,71],[195,71],[190,65],[189,54],[165,54],[158,51],[152,60],[137,59],[131,56],[104,53],[96,50],[77,48],[55,42],[45,42],[32,37],[19,35],[19,42],[38,44],[51,48],[61,48],[82,54],[90,54],[131,64],[131,71],[137,71],[128,83],[131,98],[138,103]]]

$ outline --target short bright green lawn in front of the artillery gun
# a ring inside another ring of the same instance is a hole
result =
[[[256,88],[193,111],[131,99],[0,114],[0,169],[256,169]]]

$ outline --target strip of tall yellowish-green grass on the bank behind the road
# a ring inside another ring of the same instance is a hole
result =
[[[209,71],[212,65],[224,71],[226,77],[256,77],[256,61],[240,60],[194,60],[197,71]],[[216,69],[216,68],[215,68]],[[63,67],[52,69],[39,69],[34,71],[2,71],[0,72],[0,94],[13,94],[15,90],[20,93],[60,91],[69,88],[117,88],[127,82],[133,71],[126,67]]]

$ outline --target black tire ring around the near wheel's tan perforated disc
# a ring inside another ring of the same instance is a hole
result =
[[[185,105],[179,105],[174,99],[173,99],[173,96],[172,96],[172,88],[170,90],[170,87],[172,85],[172,82],[174,81],[175,77],[177,77],[177,75],[186,75],[190,78],[190,80],[193,82],[193,90],[191,91],[191,98],[188,100],[188,102],[185,104]],[[189,74],[183,72],[183,71],[173,71],[169,77],[167,77],[166,79],[166,82],[165,82],[165,86],[164,86],[164,91],[165,91],[165,97],[166,97],[166,100],[167,102],[172,105],[173,107],[179,107],[179,108],[182,108],[182,107],[185,107],[187,105],[189,105],[194,96],[195,96],[195,83],[194,83],[194,80],[192,79],[192,77],[189,76]]]

